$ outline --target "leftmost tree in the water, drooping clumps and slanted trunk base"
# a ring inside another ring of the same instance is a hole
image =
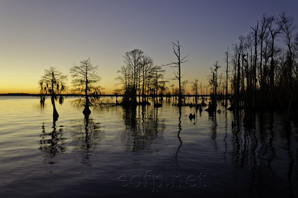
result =
[[[51,94],[51,101],[53,105],[53,119],[57,120],[59,114],[56,109],[55,100],[58,99],[57,94],[66,90],[65,81],[67,80],[67,75],[59,72],[56,67],[50,67],[45,69],[44,75],[39,81],[40,86],[46,90],[46,93]],[[62,96],[61,96],[61,99]]]

